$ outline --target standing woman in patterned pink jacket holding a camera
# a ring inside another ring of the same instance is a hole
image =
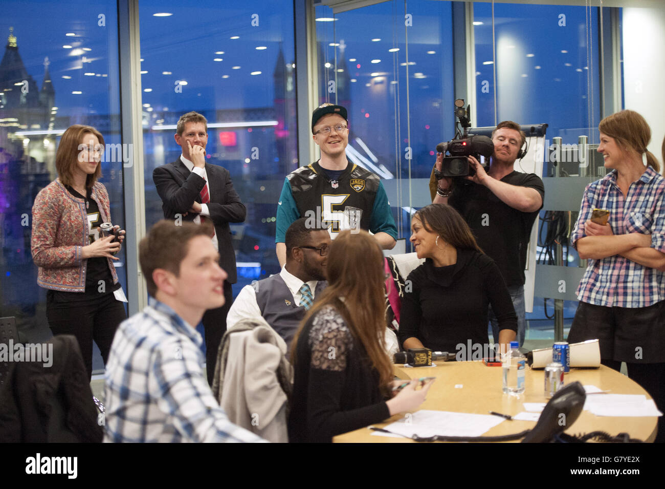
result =
[[[113,336],[126,319],[126,301],[113,265],[124,239],[100,236],[111,222],[102,174],[104,138],[90,126],[76,124],[63,134],[55,155],[58,178],[43,188],[33,204],[33,261],[37,285],[48,289],[47,319],[54,335],[74,335],[88,379],[92,341],[106,363]]]

